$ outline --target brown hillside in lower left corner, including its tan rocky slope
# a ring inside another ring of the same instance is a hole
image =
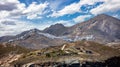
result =
[[[9,43],[0,44],[0,66],[9,67],[10,63],[30,51],[33,50]]]

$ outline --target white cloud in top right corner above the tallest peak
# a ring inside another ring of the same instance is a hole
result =
[[[94,9],[92,9],[90,12],[92,14],[101,14],[105,12],[113,12],[120,10],[120,0],[103,0],[104,3]]]

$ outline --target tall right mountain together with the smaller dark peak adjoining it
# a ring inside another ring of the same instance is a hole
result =
[[[71,27],[61,24],[52,25],[44,32],[66,36],[71,41],[91,40],[99,43],[120,41],[120,20],[109,15],[100,14],[88,21],[78,23]]]

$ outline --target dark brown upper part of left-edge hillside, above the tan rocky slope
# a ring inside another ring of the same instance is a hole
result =
[[[21,53],[28,53],[32,51],[31,49],[27,49],[18,45],[12,44],[0,44],[0,58],[7,55],[7,54],[21,54]]]

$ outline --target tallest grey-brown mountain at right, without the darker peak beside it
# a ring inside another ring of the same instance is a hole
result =
[[[105,14],[78,23],[70,30],[73,30],[72,36],[77,36],[76,40],[86,38],[101,43],[120,40],[120,20]]]

